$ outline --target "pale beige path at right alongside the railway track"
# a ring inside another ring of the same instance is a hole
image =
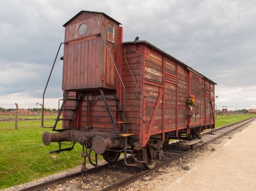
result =
[[[256,190],[256,121],[164,190]]]

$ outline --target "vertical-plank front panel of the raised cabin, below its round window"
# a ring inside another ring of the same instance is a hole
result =
[[[65,45],[62,89],[99,87],[100,42],[95,38]]]

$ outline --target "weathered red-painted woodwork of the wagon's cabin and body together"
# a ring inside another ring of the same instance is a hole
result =
[[[84,22],[89,29],[81,36],[77,34],[77,29]],[[152,135],[159,135],[164,140],[168,132],[178,136],[180,130],[190,133],[192,127],[214,125],[213,81],[146,41],[123,43],[120,23],[104,14],[83,12],[65,24],[65,42],[68,44],[64,50],[62,88],[64,91],[73,91],[69,97],[72,99],[78,97],[78,91],[89,94],[88,100],[84,96],[79,103],[72,121],[73,129],[85,130],[88,123],[92,132],[113,131],[113,124],[98,88],[116,91],[120,102],[124,101],[121,81],[103,40],[97,35],[101,33],[107,40],[109,23],[114,26],[115,35],[114,43],[107,41],[107,46],[126,87],[124,104],[126,120],[129,122],[128,133],[134,134],[141,146],[144,147]],[[194,94],[198,102],[192,111],[187,106],[189,94]],[[107,97],[113,99],[110,93]],[[107,103],[115,120],[120,121],[115,100],[107,100]],[[74,105],[75,101],[70,101],[65,104],[65,108],[72,109]],[[193,115],[191,120],[190,114]],[[65,111],[63,115],[67,119],[71,112]],[[64,121],[63,128],[68,126]],[[121,124],[118,124],[118,129],[122,130]]]

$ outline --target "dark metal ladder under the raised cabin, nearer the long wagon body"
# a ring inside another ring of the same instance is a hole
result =
[[[104,103],[106,105],[107,112],[109,113],[110,120],[111,120],[111,122],[113,124],[113,127],[115,129],[115,132],[113,132],[113,133],[127,133],[126,123],[129,123],[129,122],[126,121],[126,116],[124,115],[124,110],[121,108],[120,100],[116,96],[116,92],[115,91],[112,92],[113,98],[108,98],[108,97],[105,96],[104,91],[103,91],[102,88],[99,88],[99,91],[100,91],[101,99],[104,101]],[[115,121],[115,119],[112,115],[110,106],[107,103],[107,100],[115,100],[116,106],[117,106],[117,112],[121,114],[122,121]],[[123,132],[118,132],[117,124],[122,124]]]

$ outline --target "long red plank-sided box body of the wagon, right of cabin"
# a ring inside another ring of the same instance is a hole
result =
[[[202,127],[214,126],[212,80],[147,41],[124,42],[122,64],[128,127],[139,136],[141,146],[146,146],[152,135],[161,134],[164,140],[165,133],[175,132],[178,138],[179,130],[180,135],[183,129],[190,134],[191,128],[200,132]],[[192,110],[187,106],[190,94],[196,98]],[[134,111],[135,105],[140,109]]]

